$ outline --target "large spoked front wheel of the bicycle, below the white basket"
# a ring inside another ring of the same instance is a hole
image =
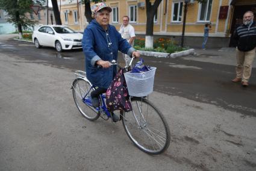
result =
[[[133,111],[123,113],[123,127],[133,143],[148,154],[161,154],[170,144],[170,130],[163,114],[150,101],[132,98]]]

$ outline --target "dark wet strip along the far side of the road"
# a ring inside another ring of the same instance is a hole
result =
[[[8,55],[19,54],[19,57],[33,63],[70,70],[84,69],[81,49],[59,53],[54,48],[36,49],[32,43],[4,40],[0,44],[0,51]],[[231,82],[235,76],[231,62],[233,59],[220,57],[217,49],[215,56],[213,52],[211,55],[200,52],[198,56],[181,58],[143,57],[146,64],[157,67],[154,91],[256,116],[256,70],[252,69],[249,87],[245,88],[239,83]],[[223,64],[225,60],[227,62]],[[120,54],[119,62],[124,64]]]

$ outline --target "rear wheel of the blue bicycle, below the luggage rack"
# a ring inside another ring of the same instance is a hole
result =
[[[89,82],[84,79],[77,78],[73,81],[72,88],[73,99],[80,113],[88,120],[93,121],[98,119],[100,116],[99,111],[89,105],[89,103],[92,102],[90,94],[93,91]]]

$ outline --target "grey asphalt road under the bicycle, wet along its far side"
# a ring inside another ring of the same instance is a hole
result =
[[[82,51],[0,40],[0,170],[255,170],[255,71],[244,89],[231,65],[143,58],[157,67],[149,99],[172,135],[157,156],[139,151],[121,122],[78,112],[70,85]]]

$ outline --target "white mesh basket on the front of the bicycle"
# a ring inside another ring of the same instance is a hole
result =
[[[153,92],[156,67],[142,73],[125,72],[125,81],[130,96],[143,97]]]

